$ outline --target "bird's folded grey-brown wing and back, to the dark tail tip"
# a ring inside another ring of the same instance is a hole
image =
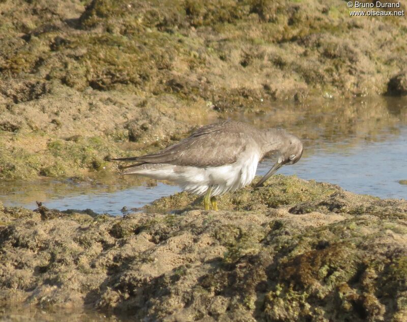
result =
[[[237,122],[222,122],[199,128],[177,144],[156,153],[115,159],[143,163],[169,163],[183,166],[221,166],[234,163],[253,140]]]

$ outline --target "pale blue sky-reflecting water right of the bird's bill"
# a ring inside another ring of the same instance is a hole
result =
[[[265,161],[257,169],[264,174],[272,166]],[[337,184],[346,190],[383,198],[407,198],[407,127],[385,141],[361,142],[344,150],[332,144],[329,150],[314,151],[300,162],[283,167],[279,173],[296,174],[306,180]]]

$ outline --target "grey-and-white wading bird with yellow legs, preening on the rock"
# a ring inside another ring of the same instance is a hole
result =
[[[247,123],[228,120],[200,127],[158,153],[112,160],[136,162],[125,166],[121,174],[175,182],[184,191],[203,195],[205,210],[212,206],[218,211],[216,196],[250,184],[257,164],[271,153],[277,154],[277,161],[256,187],[281,166],[297,163],[303,143],[284,129],[258,130]]]

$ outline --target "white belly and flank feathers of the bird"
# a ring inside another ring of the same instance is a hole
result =
[[[211,196],[236,191],[248,185],[256,174],[259,155],[247,153],[241,155],[235,163],[218,167],[198,168],[171,164],[142,164],[127,174],[134,173],[157,180],[168,180],[178,184],[183,190],[203,195],[212,186]]]

